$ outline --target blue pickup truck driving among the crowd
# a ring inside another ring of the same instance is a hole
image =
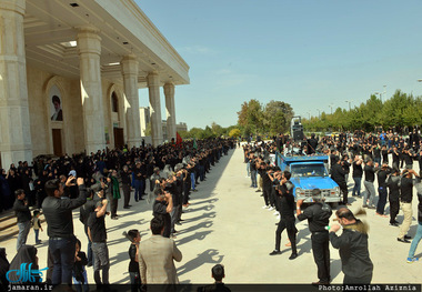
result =
[[[321,194],[328,203],[341,201],[339,185],[329,177],[326,164],[328,155],[282,155],[277,153],[277,164],[292,174],[290,181],[293,183],[295,201],[304,203],[312,202],[312,190],[320,189]]]

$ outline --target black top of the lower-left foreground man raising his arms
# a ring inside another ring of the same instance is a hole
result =
[[[42,212],[48,224],[47,234],[50,238],[70,238],[73,235],[72,210],[87,202],[86,187],[79,185],[77,199],[60,199],[47,197],[42,202]]]

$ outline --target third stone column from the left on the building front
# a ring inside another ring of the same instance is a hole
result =
[[[141,124],[138,95],[138,60],[134,54],[125,56],[120,62],[122,67],[124,95],[129,102],[127,108],[127,131],[129,147],[140,147]]]

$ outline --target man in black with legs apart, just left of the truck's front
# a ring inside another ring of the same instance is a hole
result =
[[[292,246],[292,254],[289,260],[294,260],[298,258],[297,251],[297,228],[294,225],[294,197],[293,197],[293,184],[290,180],[290,172],[284,171],[282,174],[282,179],[280,181],[280,185],[278,185],[278,195],[280,195],[280,222],[275,231],[275,250],[273,250],[270,255],[280,254],[280,245],[281,245],[281,233],[284,229],[288,230],[289,240]]]

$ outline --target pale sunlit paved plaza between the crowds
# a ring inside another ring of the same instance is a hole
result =
[[[418,167],[416,167],[418,168]],[[418,171],[418,169],[416,169]],[[183,253],[177,263],[181,283],[209,283],[211,268],[221,263],[225,266],[225,283],[311,283],[318,281],[316,266],[311,251],[311,235],[307,222],[297,224],[299,258],[290,261],[291,250],[284,246],[287,234],[282,234],[282,254],[270,256],[274,249],[277,217],[273,211],[263,210],[263,199],[255,189],[249,188],[245,178],[243,151],[231,150],[220,163],[212,168],[201,182],[199,192],[191,194],[191,205],[184,209],[185,221],[177,226],[175,243]],[[353,185],[349,181],[349,190]],[[349,192],[351,194],[351,192]],[[414,191],[415,194],[415,191]],[[351,198],[351,209],[362,205],[362,199]],[[416,230],[416,197],[413,199],[413,222],[410,235]],[[119,220],[107,218],[108,246],[110,252],[110,282],[129,283],[129,245],[123,231],[139,229],[142,240],[150,236],[149,221],[152,218],[151,205],[145,201],[131,202],[124,210],[119,201]],[[389,209],[386,210],[389,211]],[[402,221],[402,213],[398,221]],[[370,255],[374,263],[373,283],[421,283],[422,263],[406,263],[410,244],[396,241],[399,228],[390,226],[388,218],[375,215],[368,210],[364,218],[370,224]],[[79,221],[79,212],[73,214],[74,233],[87,249],[87,236]],[[41,233],[43,243],[38,245],[40,268],[47,266],[47,225]],[[33,231],[28,244],[34,243]],[[422,243],[421,243],[422,244]],[[16,251],[16,236],[1,242],[11,261]],[[331,246],[331,245],[330,245]],[[421,256],[421,248],[416,256]],[[341,262],[336,250],[331,248],[331,276],[333,283],[342,283]],[[88,268],[89,282],[93,283],[92,268]]]

